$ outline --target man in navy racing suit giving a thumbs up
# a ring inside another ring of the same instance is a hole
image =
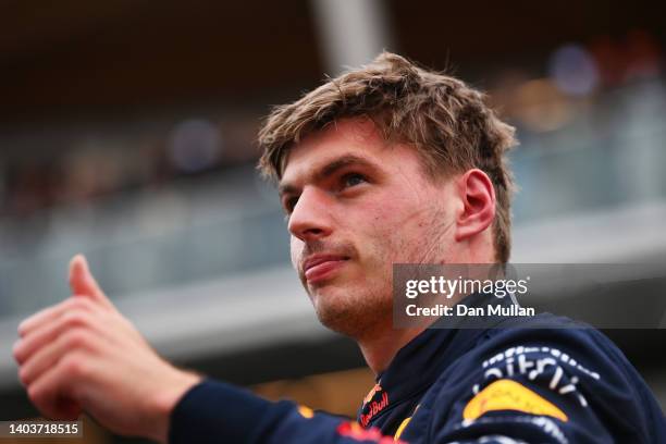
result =
[[[275,109],[260,144],[317,316],[378,374],[358,423],[175,369],[82,257],[73,297],[18,328],[20,378],[45,416],[84,410],[173,443],[666,442],[645,383],[592,329],[552,316],[393,326],[394,263],[508,261],[513,128],[481,94],[384,53]]]

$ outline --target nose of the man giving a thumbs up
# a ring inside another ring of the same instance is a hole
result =
[[[329,236],[333,231],[329,200],[326,193],[306,187],[289,217],[289,233],[303,242]]]

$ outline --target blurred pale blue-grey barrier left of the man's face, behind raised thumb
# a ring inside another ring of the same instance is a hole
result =
[[[61,300],[77,251],[112,297],[284,262],[284,217],[269,189],[245,166],[213,181],[48,211],[27,227],[5,227],[0,316]],[[23,230],[41,236],[8,237]]]

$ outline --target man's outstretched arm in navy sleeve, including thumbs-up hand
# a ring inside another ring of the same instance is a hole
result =
[[[21,323],[13,350],[45,417],[86,411],[114,433],[162,443],[382,441],[377,430],[176,369],[115,309],[83,257],[71,263],[70,286],[74,296]]]

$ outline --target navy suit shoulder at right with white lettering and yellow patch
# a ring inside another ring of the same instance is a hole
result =
[[[664,433],[658,404],[622,353],[597,330],[552,314],[484,331],[423,404],[452,436],[507,421],[574,442]]]

